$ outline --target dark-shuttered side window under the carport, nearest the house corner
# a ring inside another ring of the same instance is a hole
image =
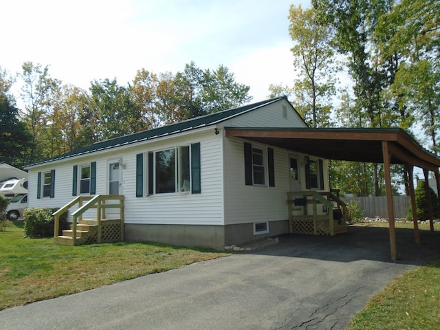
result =
[[[244,144],[245,184],[247,186],[275,186],[274,149]]]

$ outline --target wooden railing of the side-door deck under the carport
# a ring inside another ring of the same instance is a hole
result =
[[[322,220],[322,216],[318,216],[318,210],[317,210],[317,203],[322,203],[322,205],[327,208],[327,215],[325,216],[328,218],[329,221],[329,234],[334,235],[335,234],[335,223],[334,223],[334,217],[333,217],[333,202],[336,203],[338,208],[342,208],[342,220],[343,224],[347,224],[347,204],[342,201],[338,196],[333,194],[333,192],[318,192],[315,190],[305,190],[305,191],[291,191],[287,192],[287,201],[289,204],[289,224],[290,224],[290,232],[293,231],[293,221],[294,221],[294,207],[295,207],[295,199],[294,197],[303,197],[305,212],[307,215],[307,206],[310,202],[312,204],[312,212],[311,216],[313,217],[314,221],[314,234],[318,234],[318,221]],[[307,197],[311,197],[307,199]],[[303,210],[303,208],[301,208]]]

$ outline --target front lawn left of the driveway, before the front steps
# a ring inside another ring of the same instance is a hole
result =
[[[156,243],[72,247],[23,236],[23,221],[8,221],[0,232],[0,310],[228,255]]]

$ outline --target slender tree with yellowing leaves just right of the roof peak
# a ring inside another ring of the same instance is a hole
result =
[[[336,94],[336,63],[331,46],[331,29],[318,22],[318,12],[290,6],[289,34],[294,42],[294,67],[300,79],[294,85],[294,104],[310,126],[329,126],[331,97]]]

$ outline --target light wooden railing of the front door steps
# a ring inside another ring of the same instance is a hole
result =
[[[84,203],[87,201],[87,203]],[[118,203],[107,203],[107,201],[118,201]],[[84,204],[83,204],[84,203]],[[54,212],[54,237],[58,237],[60,228],[60,216],[73,206],[78,204],[78,209],[72,213],[72,239],[74,245],[76,242],[76,225],[83,220],[83,214],[91,208],[96,208],[96,221],[98,225],[98,243],[101,243],[102,236],[102,219],[105,219],[105,210],[107,208],[119,208],[120,210],[120,228],[121,239],[124,241],[124,196],[123,195],[96,195],[96,196],[78,196],[73,201],[70,201],[65,206]]]

